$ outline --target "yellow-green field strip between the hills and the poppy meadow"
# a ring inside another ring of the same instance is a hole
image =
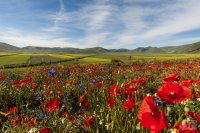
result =
[[[2,56],[3,55],[3,56]],[[63,59],[74,59],[78,57],[90,56],[83,59],[77,59],[68,63],[110,63],[111,60],[117,59],[125,63],[130,61],[154,61],[154,60],[182,60],[182,59],[196,59],[200,58],[200,54],[11,54],[0,53],[0,66],[9,64],[22,63],[40,63],[42,61],[54,62]],[[131,60],[130,60],[131,56]],[[30,61],[32,58],[36,58]],[[43,59],[44,58],[44,59]]]

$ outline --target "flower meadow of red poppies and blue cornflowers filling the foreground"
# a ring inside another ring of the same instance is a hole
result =
[[[199,133],[200,60],[0,73],[0,132]]]

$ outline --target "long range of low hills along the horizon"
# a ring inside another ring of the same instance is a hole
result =
[[[93,48],[60,48],[60,47],[34,47],[27,46],[18,48],[7,43],[0,42],[0,52],[20,52],[20,53],[200,53],[200,42],[181,45],[181,46],[166,46],[166,47],[139,47],[136,49],[105,49],[102,47]]]

